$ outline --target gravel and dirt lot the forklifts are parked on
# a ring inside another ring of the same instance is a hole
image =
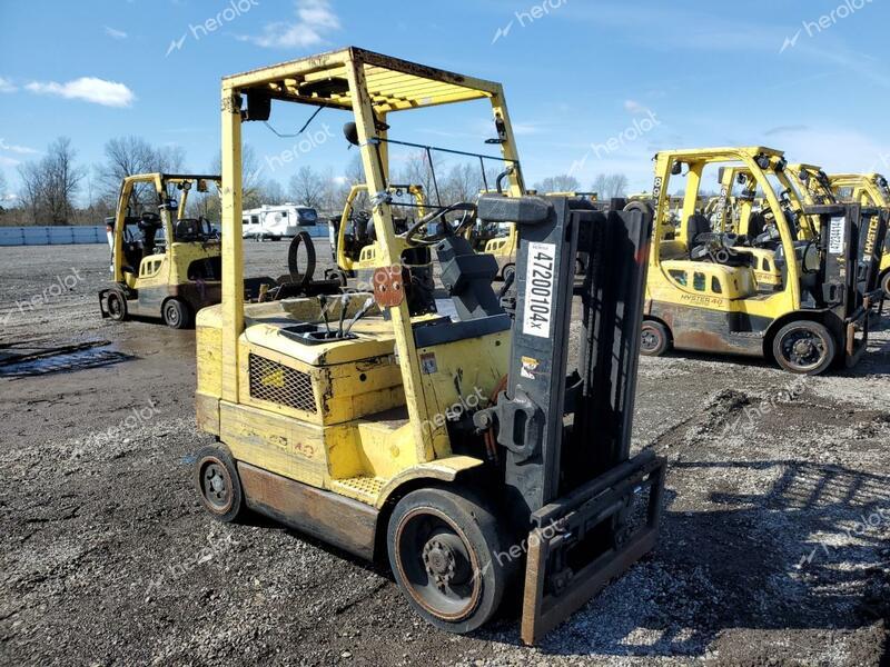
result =
[[[248,245],[251,270],[284,272],[285,250]],[[854,370],[804,380],[643,359],[636,446],[671,464],[660,547],[527,649],[512,618],[445,635],[385,571],[211,520],[194,334],[102,321],[107,256],[0,248],[0,358],[103,341],[33,369],[75,370],[0,377],[0,663],[888,664],[887,329]]]

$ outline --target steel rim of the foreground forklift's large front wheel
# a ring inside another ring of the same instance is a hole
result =
[[[457,525],[432,507],[416,508],[398,524],[396,564],[412,599],[448,621],[469,617],[482,598],[475,551]]]

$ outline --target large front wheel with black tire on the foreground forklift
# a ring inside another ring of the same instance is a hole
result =
[[[514,564],[496,556],[510,545],[472,494],[412,491],[393,510],[386,545],[399,588],[432,625],[471,633],[497,611]]]

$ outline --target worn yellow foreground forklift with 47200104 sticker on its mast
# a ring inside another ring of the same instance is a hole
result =
[[[479,101],[514,167],[508,190],[427,203],[397,236],[389,123]],[[241,132],[284,104],[349,118],[382,193],[373,291],[244,300]],[[495,82],[346,48],[226,77],[221,109],[222,302],[197,320],[198,424],[218,441],[196,456],[204,506],[388,561],[417,614],[448,631],[481,627],[523,588],[522,638],[540,640],[656,541],[664,460],[630,455],[651,219],[524,196]],[[464,236],[476,219],[521,230],[511,310],[495,259]],[[436,252],[455,317],[413,311],[406,246]],[[576,290],[580,250],[600,261]]]

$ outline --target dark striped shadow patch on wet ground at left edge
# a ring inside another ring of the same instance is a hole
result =
[[[50,348],[22,347],[19,350],[8,348],[0,357],[0,378],[17,379],[72,372],[112,366],[135,358],[117,350],[107,340]]]

